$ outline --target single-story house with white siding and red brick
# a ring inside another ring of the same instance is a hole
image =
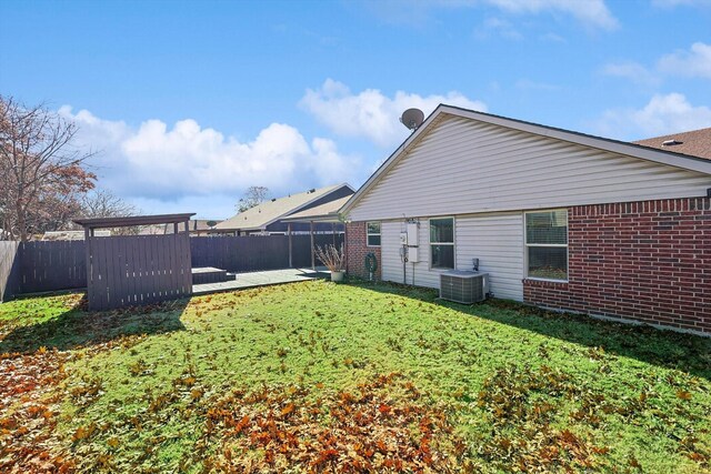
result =
[[[710,152],[679,137],[439,105],[341,209],[348,272],[372,252],[382,280],[439,288],[479,259],[497,297],[711,334]]]

